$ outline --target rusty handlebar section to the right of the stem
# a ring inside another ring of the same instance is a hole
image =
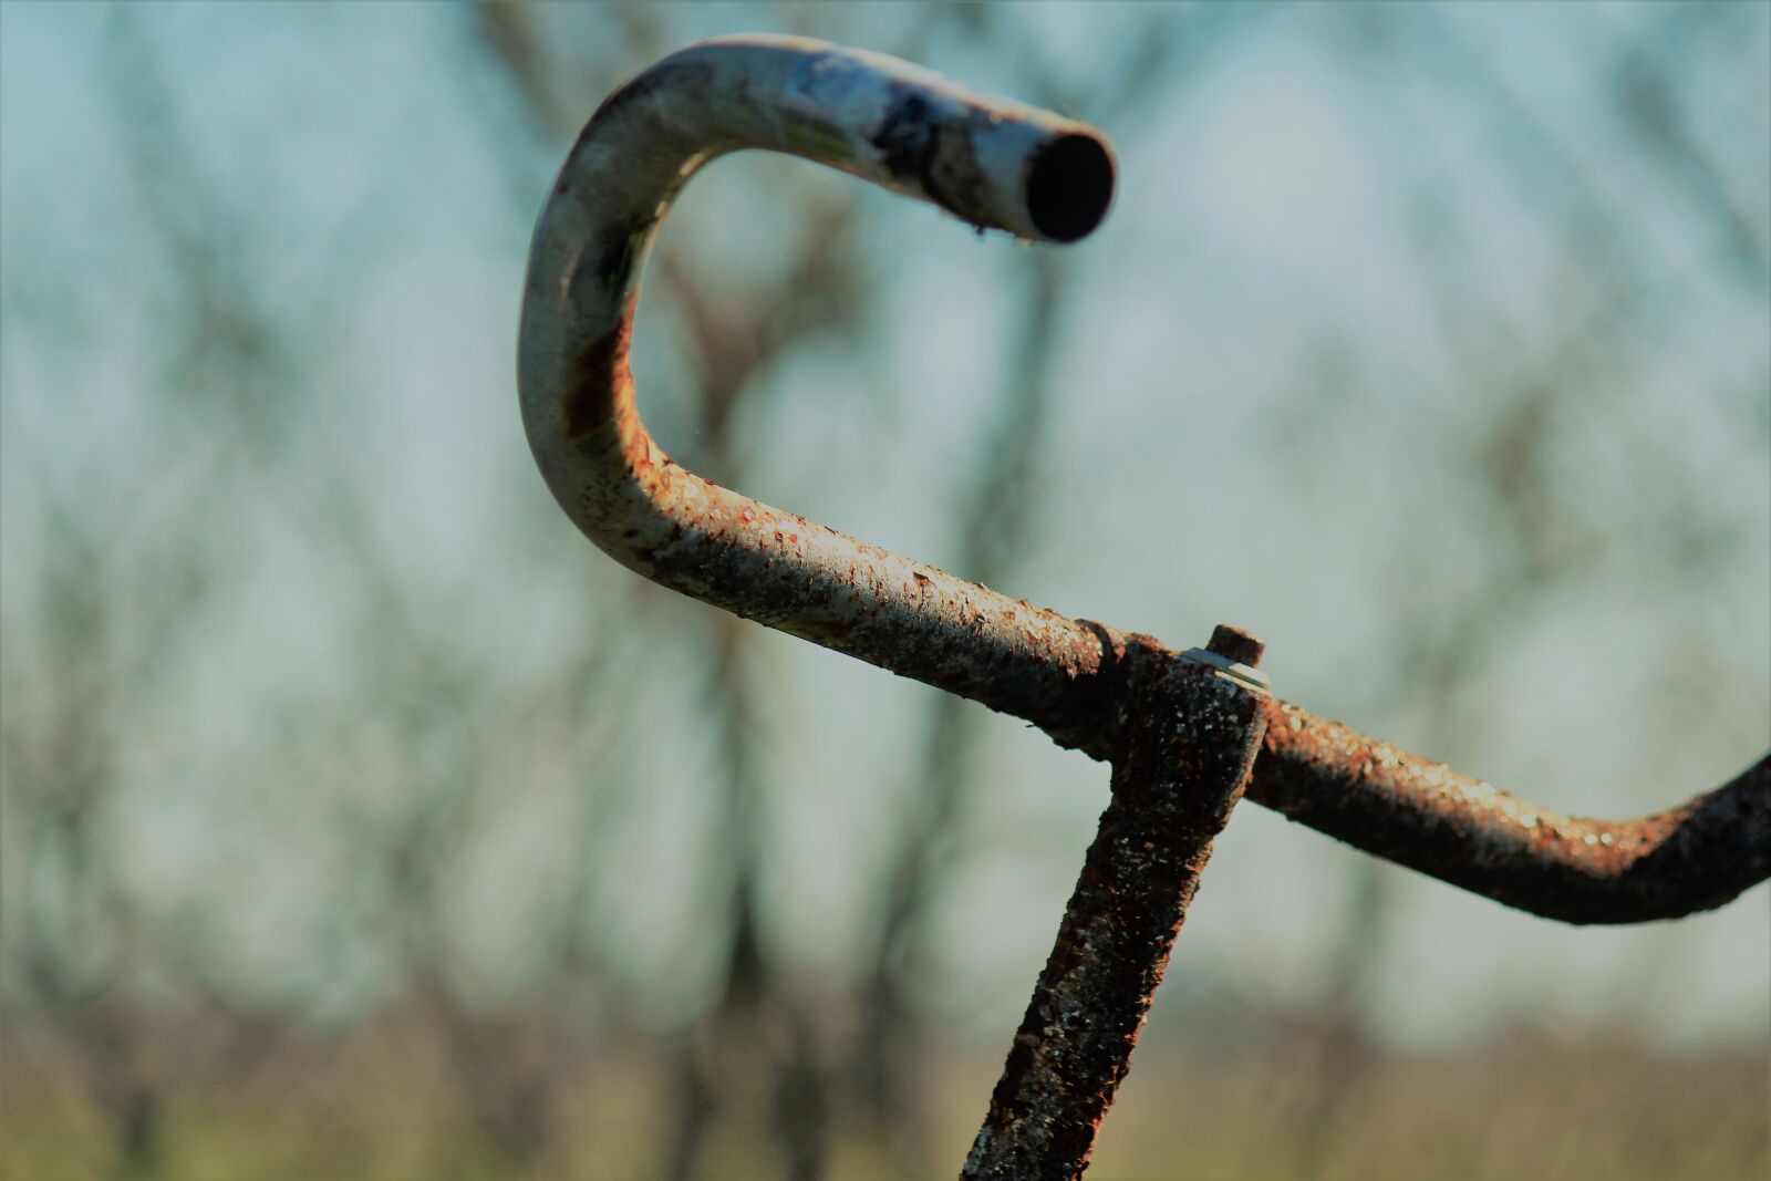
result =
[[[1771,875],[1771,756],[1640,820],[1564,816],[1275,703],[1249,799],[1397,864],[1564,922],[1677,919]]]

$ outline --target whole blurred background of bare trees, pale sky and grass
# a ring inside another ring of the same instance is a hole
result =
[[[949,1176],[1105,768],[553,506],[528,230],[703,35],[1114,136],[1070,250],[742,156],[689,467],[1555,807],[1771,742],[1771,7],[0,7],[0,1174]],[[1578,931],[1249,806],[1091,1176],[1744,1177],[1766,891]]]

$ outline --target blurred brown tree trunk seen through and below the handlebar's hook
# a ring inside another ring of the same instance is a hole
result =
[[[646,64],[669,48],[641,9],[616,7],[611,21],[625,37],[630,62]],[[554,99],[535,51],[528,14],[510,5],[480,9],[478,28],[491,55],[514,80],[530,119],[551,140],[576,135],[581,115]],[[554,152],[556,154],[556,152]],[[691,469],[742,487],[742,446],[733,411],[763,390],[760,379],[785,354],[825,329],[843,329],[859,313],[852,260],[850,198],[806,200],[797,237],[785,244],[774,276],[691,273],[680,250],[661,243],[652,274],[669,301],[696,377]],[[822,1176],[827,1108],[816,1023],[793,988],[781,981],[763,944],[762,878],[769,861],[767,758],[756,717],[749,625],[733,616],[708,620],[707,714],[715,719],[717,820],[714,880],[724,878],[723,924],[728,951],[721,984],[707,1016],[677,1050],[673,1115],[664,1123],[662,1160],[671,1177],[694,1176],[707,1137],[723,1108],[737,1105],[753,1128],[772,1128],[786,1176]],[[717,930],[717,928],[715,928]],[[751,1078],[772,1078],[774,1103]]]

